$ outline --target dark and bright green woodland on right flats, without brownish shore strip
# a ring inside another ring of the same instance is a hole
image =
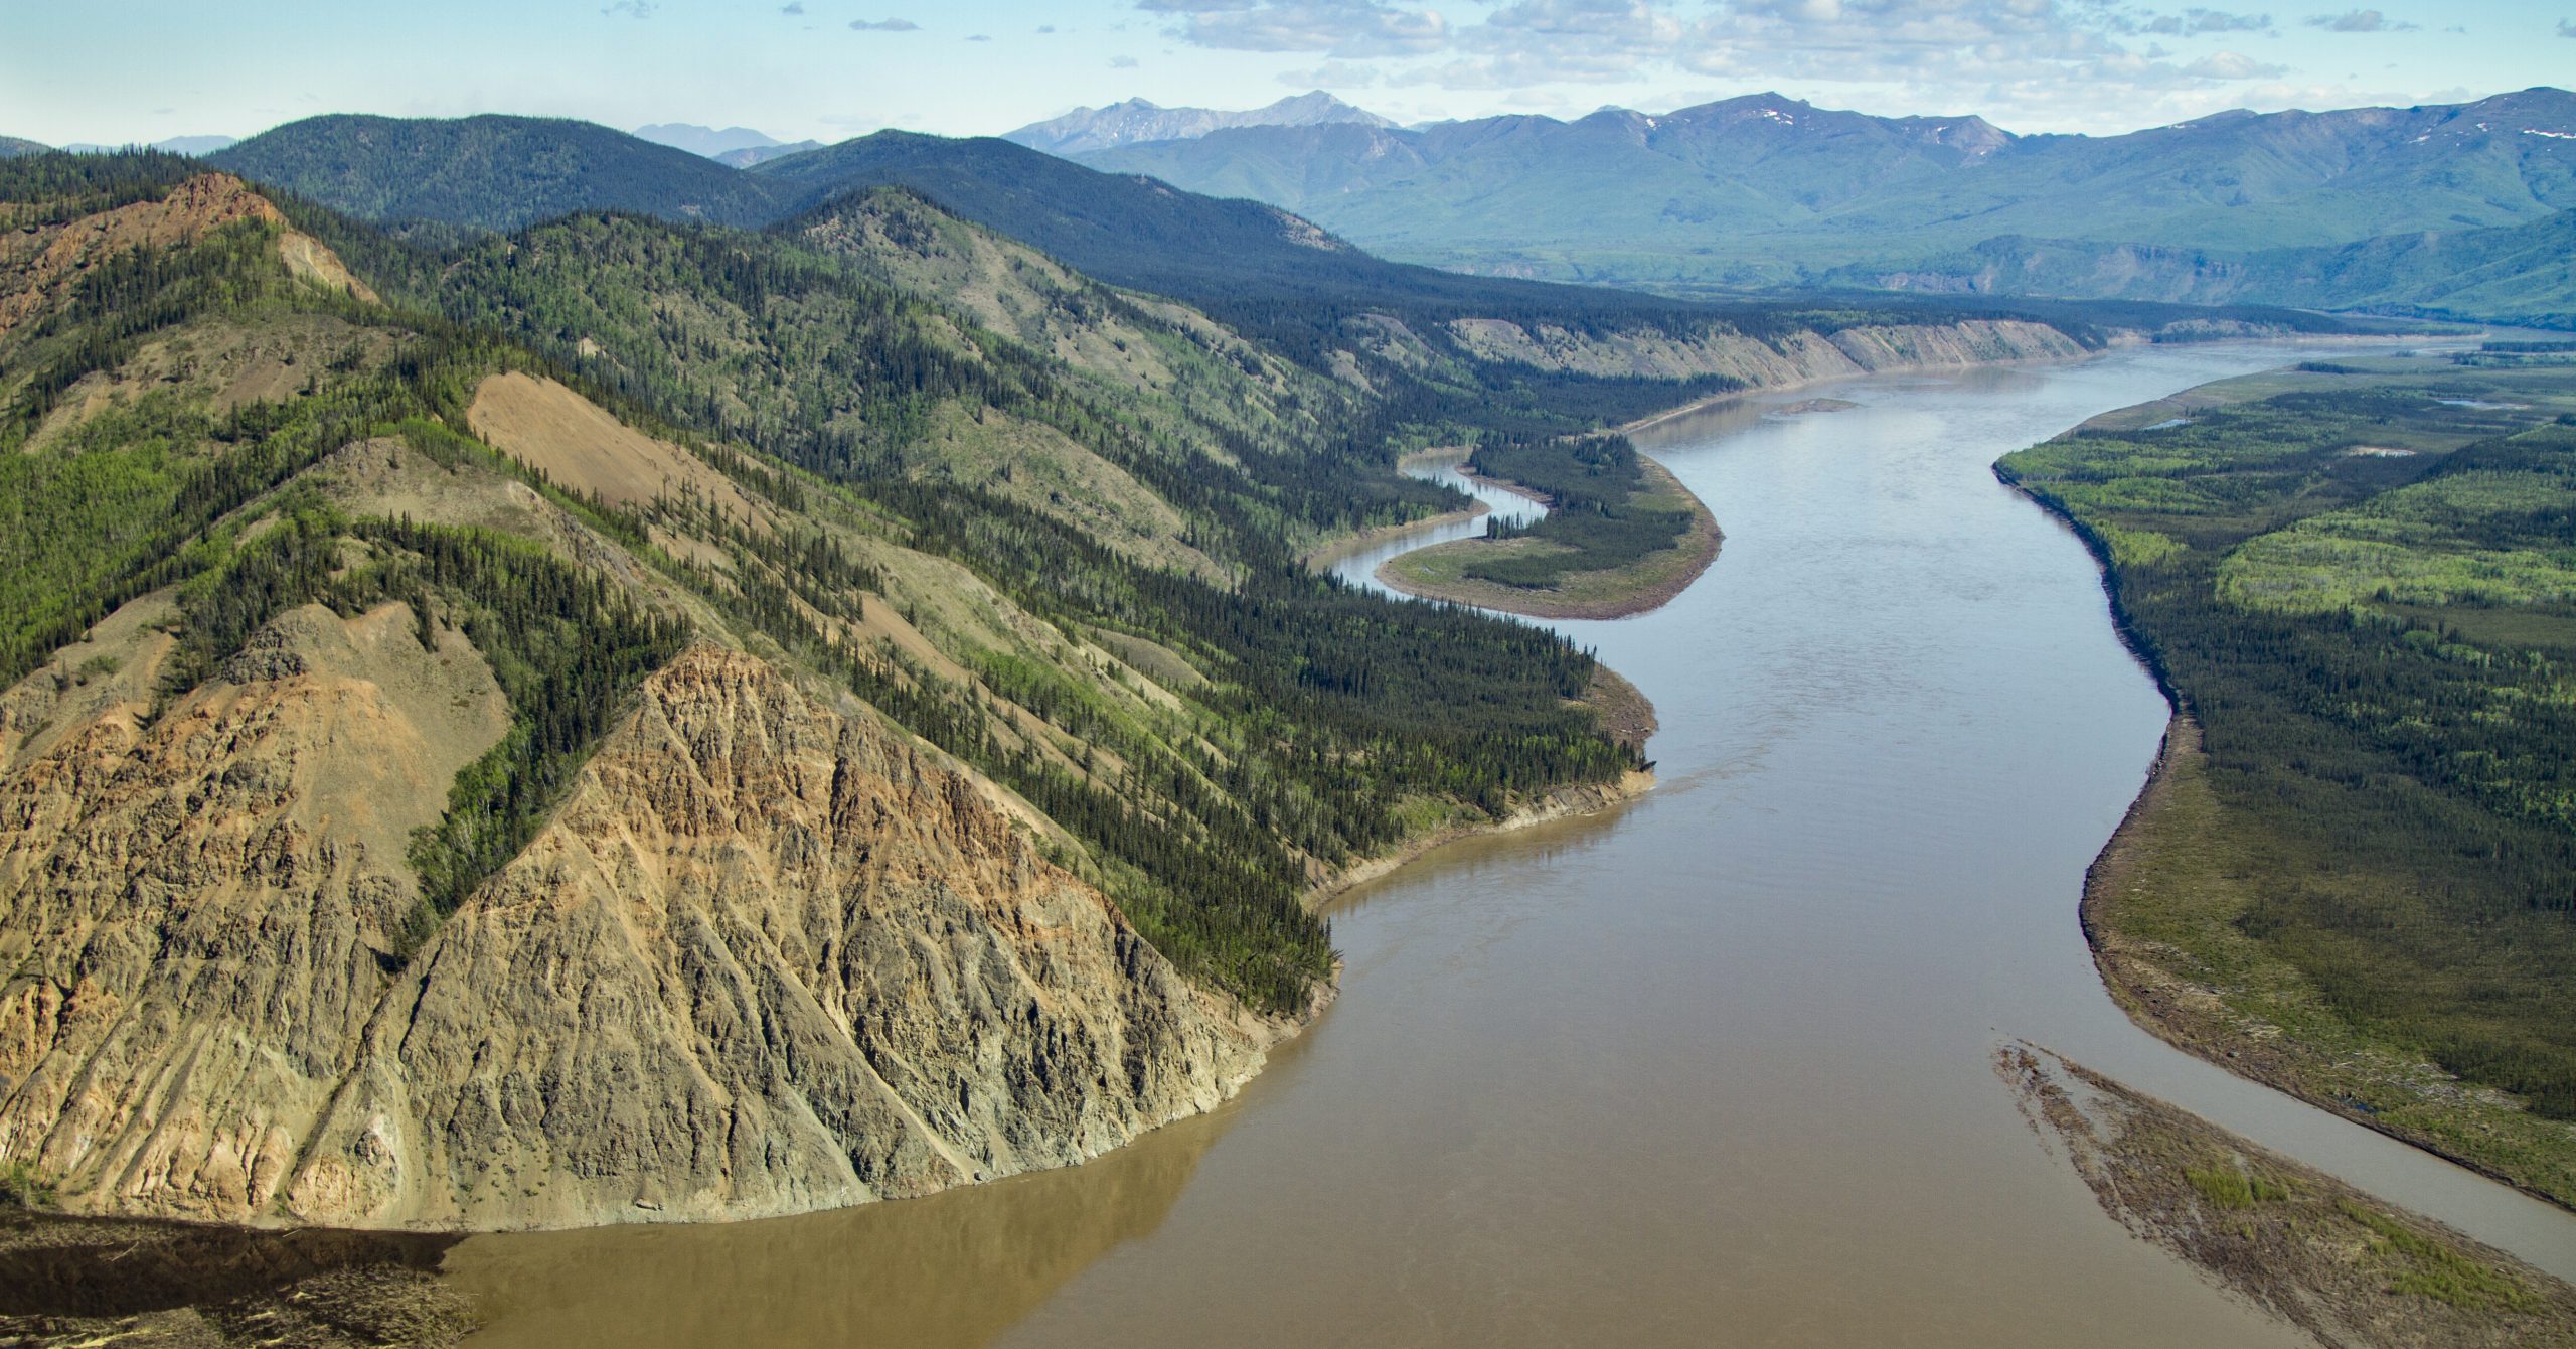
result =
[[[2576,1119],[2576,379],[2476,366],[2316,364],[1999,472],[2094,544],[2200,722],[2264,859],[2233,926],[2370,1037]]]

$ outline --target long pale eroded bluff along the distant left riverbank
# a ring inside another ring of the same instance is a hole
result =
[[[2063,361],[2084,348],[2022,320],[1963,320],[1927,325],[1862,325],[1839,333],[1790,333],[1762,340],[1741,333],[1672,338],[1654,330],[1602,338],[1564,328],[1520,328],[1507,320],[1455,320],[1450,333],[1489,361],[1595,377],[1687,379],[1726,374],[1747,387],[1806,384],[1909,366],[1981,366],[1991,361]]]

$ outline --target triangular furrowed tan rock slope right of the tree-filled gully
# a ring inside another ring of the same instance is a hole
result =
[[[1265,1039],[966,779],[696,647],[384,1001],[289,1202],[495,1225],[922,1194],[1206,1109]]]

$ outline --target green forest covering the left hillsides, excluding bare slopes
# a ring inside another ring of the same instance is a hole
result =
[[[13,160],[0,209],[72,219],[152,201],[191,170],[149,155]],[[0,655],[15,678],[165,586],[183,637],[165,696],[307,601],[410,604],[425,642],[461,629],[492,660],[513,730],[459,774],[443,823],[415,843],[425,900],[410,941],[526,843],[685,624],[670,601],[533,542],[314,498],[307,472],[371,436],[536,487],[706,606],[719,640],[845,684],[1023,794],[1079,841],[1064,862],[1164,954],[1260,1009],[1303,1006],[1329,972],[1329,934],[1298,903],[1321,867],[1425,818],[1497,815],[1638,766],[1571,702],[1592,660],[1564,640],[1296,565],[1303,539],[1445,506],[1391,469],[1404,436],[1455,431],[1406,420],[1417,402],[1301,397],[1291,382],[1231,397],[1229,415],[1188,397],[1146,408],[783,232],[590,214],[440,250],[286,209],[386,304],[294,281],[276,227],[232,224],[121,253],[0,338],[13,449],[0,459]],[[173,351],[245,328],[291,335],[283,397],[219,405],[185,379],[134,379],[185,369]],[[1151,340],[1193,351],[1211,389],[1231,369],[1188,325]],[[559,490],[461,433],[495,371],[564,382],[677,438],[762,521],[696,495],[618,508]],[[64,402],[100,379],[129,392]],[[1247,426],[1255,402],[1273,413]],[[1453,418],[1471,402],[1440,408]],[[1038,426],[1118,464],[1182,513],[1188,544],[1221,573],[1151,565],[1059,513],[922,472],[925,428],[958,413]],[[703,547],[683,557],[657,539]],[[943,565],[1041,627],[971,637],[958,593],[925,580]],[[914,614],[966,676],[855,640],[884,609]],[[1105,684],[1074,653],[1095,640],[1167,653],[1188,673],[1172,681],[1182,702]]]

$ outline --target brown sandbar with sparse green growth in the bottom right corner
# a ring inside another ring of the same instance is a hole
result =
[[[2576,1344],[2576,1287],[2504,1251],[2048,1050],[1994,1068],[2102,1212],[2324,1344]]]

